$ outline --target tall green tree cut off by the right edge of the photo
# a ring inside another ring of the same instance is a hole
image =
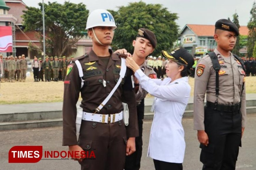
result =
[[[253,49],[256,42],[256,3],[254,1],[252,9],[250,11],[251,18],[247,25],[249,29],[248,41],[247,41],[247,53],[248,57],[252,56]]]

